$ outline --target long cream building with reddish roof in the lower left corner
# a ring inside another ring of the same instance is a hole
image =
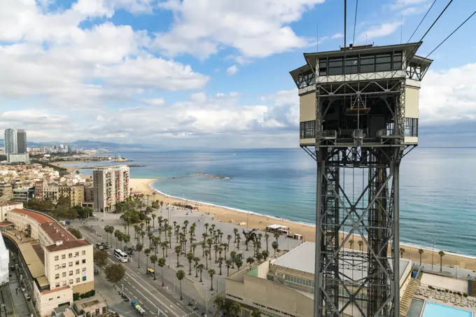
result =
[[[85,239],[76,239],[55,219],[22,204],[0,203],[0,215],[3,237],[21,255],[41,316],[71,305],[73,293],[94,289],[93,248]]]

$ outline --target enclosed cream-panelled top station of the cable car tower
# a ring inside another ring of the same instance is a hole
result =
[[[304,53],[307,64],[290,71],[300,96],[300,146],[416,146],[420,81],[433,62],[415,55],[420,45]]]

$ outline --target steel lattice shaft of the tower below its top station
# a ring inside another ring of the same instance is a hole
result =
[[[353,316],[398,316],[403,148],[316,147],[308,153],[317,162],[314,316],[340,317],[346,309]],[[349,168],[367,170],[354,198],[341,179]],[[362,238],[363,252],[344,249],[354,235]]]

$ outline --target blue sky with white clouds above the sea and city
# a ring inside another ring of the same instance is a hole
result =
[[[347,42],[407,42],[434,0],[347,1]],[[440,14],[436,0],[412,41]],[[476,1],[453,1],[426,56]],[[354,24],[354,21],[356,23]],[[429,58],[420,143],[476,146],[476,17]],[[0,0],[0,129],[29,141],[297,147],[289,71],[344,45],[344,0]],[[355,35],[354,35],[355,34]]]

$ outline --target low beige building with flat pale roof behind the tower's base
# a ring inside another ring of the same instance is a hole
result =
[[[262,315],[271,317],[313,316],[314,254],[315,244],[304,242],[291,251],[284,251],[262,263],[245,267],[226,279],[225,297],[239,302],[248,313],[253,309],[259,309]],[[347,260],[349,263],[358,262],[357,258]],[[366,277],[363,276],[366,272],[362,271],[351,271],[347,268],[341,268],[340,271],[342,276],[351,276],[354,280]],[[400,259],[400,297],[411,272],[411,261]],[[365,290],[353,289],[350,282],[343,277],[342,283],[346,284],[347,290],[356,293],[356,302],[362,309],[366,309]],[[344,287],[340,288],[339,292],[346,294]],[[358,317],[360,314],[356,307],[349,305],[344,309],[344,316]]]

